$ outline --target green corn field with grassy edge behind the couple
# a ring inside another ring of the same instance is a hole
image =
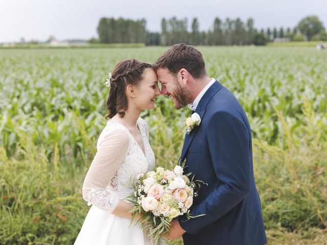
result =
[[[327,244],[327,52],[198,48],[207,74],[248,115],[268,244]],[[0,244],[74,243],[106,124],[107,74],[122,59],[152,63],[166,49],[0,49]],[[142,112],[156,166],[179,159],[189,114],[164,96]]]

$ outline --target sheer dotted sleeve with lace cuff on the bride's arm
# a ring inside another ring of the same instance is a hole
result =
[[[98,152],[86,174],[83,184],[83,198],[88,204],[112,212],[119,199],[106,188],[124,160],[129,137],[124,130],[117,130],[103,137]]]

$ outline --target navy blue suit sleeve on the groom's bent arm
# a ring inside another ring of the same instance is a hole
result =
[[[197,234],[214,223],[240,203],[250,191],[249,137],[242,122],[228,112],[217,112],[209,119],[206,134],[220,185],[201,203],[191,207],[192,216],[204,216],[187,221],[183,216],[179,218],[181,227],[190,234]]]

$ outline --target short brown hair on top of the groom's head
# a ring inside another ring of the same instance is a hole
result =
[[[184,68],[193,78],[202,78],[206,75],[204,59],[200,51],[184,43],[175,44],[153,64],[153,68],[168,68],[173,74]]]

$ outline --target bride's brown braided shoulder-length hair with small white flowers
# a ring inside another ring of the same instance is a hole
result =
[[[126,86],[128,84],[137,85],[142,80],[144,69],[151,67],[152,65],[136,59],[123,60],[114,67],[110,78],[111,87],[106,103],[109,111],[106,119],[112,118],[117,113],[120,117],[124,117],[128,107],[125,93]]]

